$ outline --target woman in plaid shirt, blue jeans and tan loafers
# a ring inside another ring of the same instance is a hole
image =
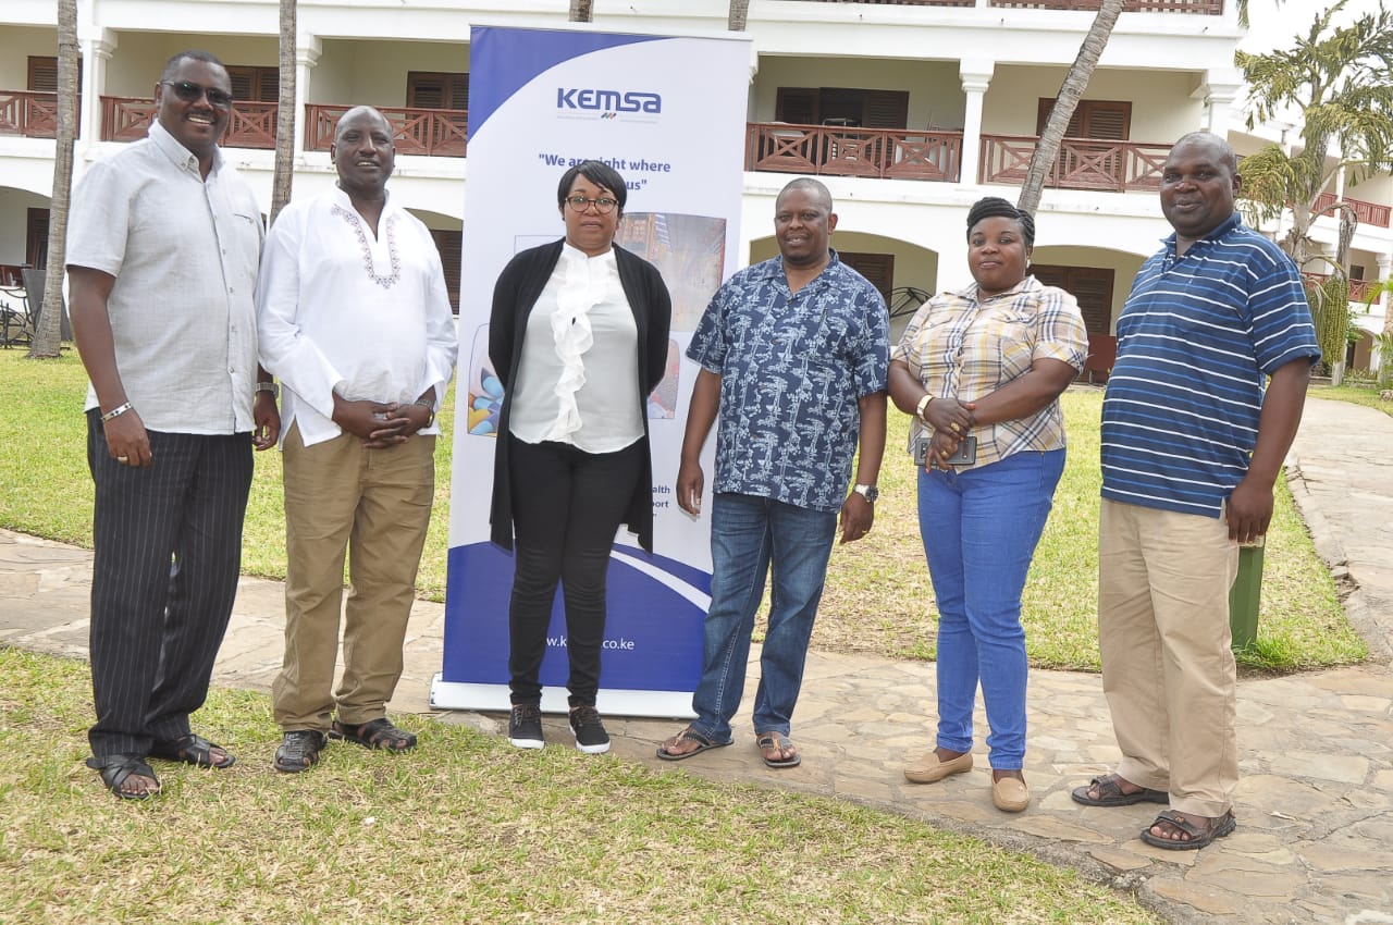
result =
[[[939,606],[936,748],[904,776],[972,768],[981,681],[992,802],[1029,805],[1021,589],[1064,471],[1059,396],[1084,368],[1078,302],[1029,276],[1035,223],[989,196],[967,217],[972,284],[919,308],[890,354],[890,397],[925,446],[919,532]],[[974,453],[975,450],[975,453]]]

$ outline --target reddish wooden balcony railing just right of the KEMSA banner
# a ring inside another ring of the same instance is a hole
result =
[[[748,123],[745,170],[957,182],[963,132]]]

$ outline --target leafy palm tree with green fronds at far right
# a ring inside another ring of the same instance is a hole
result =
[[[1298,267],[1319,261],[1332,269],[1326,283],[1311,291],[1323,359],[1332,366],[1344,358],[1348,327],[1353,209],[1343,202],[1318,209],[1316,201],[1341,171],[1354,185],[1393,169],[1393,18],[1380,3],[1351,24],[1333,26],[1347,1],[1318,14],[1290,49],[1234,56],[1250,86],[1250,128],[1290,110],[1301,117],[1300,143],[1290,152],[1272,143],[1243,159],[1241,195],[1244,210],[1258,223],[1290,217],[1279,244]],[[1340,247],[1332,261],[1312,241],[1311,226],[1333,212],[1340,213]],[[1393,333],[1393,322],[1385,330]]]

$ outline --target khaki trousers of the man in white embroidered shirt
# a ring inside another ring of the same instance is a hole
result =
[[[306,447],[291,425],[286,471],[286,660],[272,685],[286,731],[386,715],[435,495],[435,437],[366,450],[344,433]],[[344,557],[348,605],[343,607]],[[344,616],[344,673],[332,692]]]

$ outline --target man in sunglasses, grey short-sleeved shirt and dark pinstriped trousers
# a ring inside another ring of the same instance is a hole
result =
[[[227,70],[170,59],[149,137],[93,164],[72,195],[72,333],[91,378],[93,511],[88,766],[123,800],[160,790],[148,759],[228,768],[189,730],[241,568],[252,447],[280,418],[256,366],[263,226],[217,148]]]

